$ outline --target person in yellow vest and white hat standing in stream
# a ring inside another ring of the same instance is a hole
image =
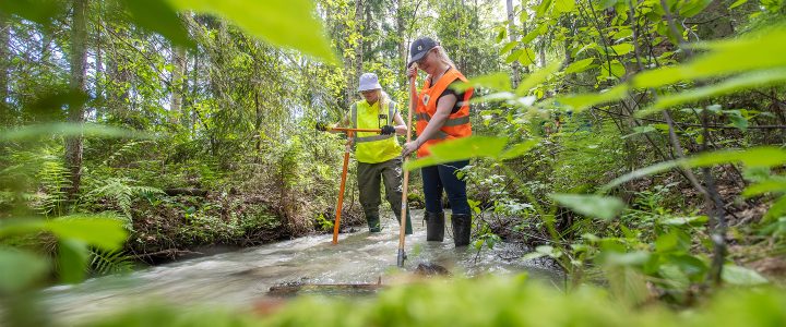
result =
[[[396,221],[402,207],[402,147],[395,134],[405,135],[407,125],[395,102],[382,90],[373,73],[360,76],[358,92],[364,99],[352,105],[342,125],[355,129],[381,129],[382,133],[358,132],[355,135],[357,181],[369,232],[381,231],[379,206],[382,203],[380,182],[384,183],[385,198],[393,208]],[[412,234],[409,208],[406,209],[405,233]]]

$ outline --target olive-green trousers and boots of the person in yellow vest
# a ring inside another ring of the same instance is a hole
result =
[[[379,206],[382,204],[382,195],[380,194],[380,182],[384,182],[385,197],[390,203],[396,221],[401,223],[401,206],[402,206],[402,159],[395,157],[388,161],[377,164],[358,162],[357,180],[360,192],[360,205],[366,215],[366,221],[369,225],[369,231],[378,232],[381,230],[379,219]],[[406,208],[406,230],[405,233],[412,234],[412,219],[409,218],[409,207]]]

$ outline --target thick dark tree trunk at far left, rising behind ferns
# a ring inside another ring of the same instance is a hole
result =
[[[87,66],[87,0],[73,0],[73,21],[71,26],[71,81],[72,92],[86,93],[85,75]],[[84,122],[84,104],[72,100],[69,104],[70,123]],[[71,173],[71,187],[68,198],[74,201],[82,180],[82,136],[75,135],[66,138],[66,165]]]

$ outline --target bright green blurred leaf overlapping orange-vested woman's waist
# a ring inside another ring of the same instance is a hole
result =
[[[404,169],[413,170],[478,157],[497,158],[504,149],[505,144],[508,144],[507,137],[469,136],[454,138],[430,146],[429,152],[431,155],[407,161]]]

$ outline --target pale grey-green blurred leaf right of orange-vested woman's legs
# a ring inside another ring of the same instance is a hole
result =
[[[626,207],[621,199],[612,196],[552,193],[549,197],[573,211],[604,220],[614,219]]]

